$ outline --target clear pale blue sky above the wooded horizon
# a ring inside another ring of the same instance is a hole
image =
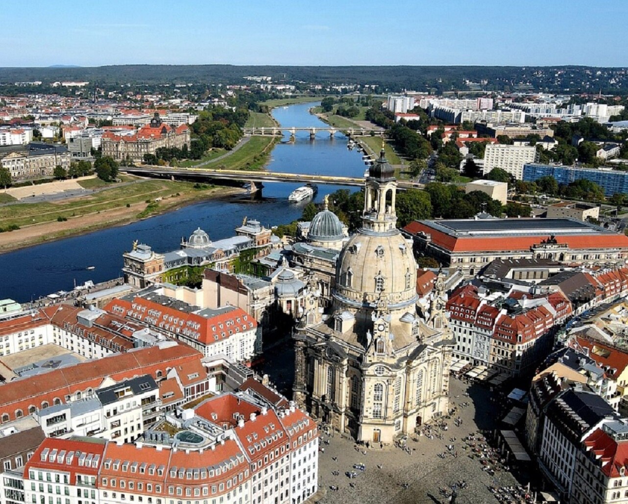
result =
[[[627,19],[625,0],[3,0],[0,67],[624,67]]]

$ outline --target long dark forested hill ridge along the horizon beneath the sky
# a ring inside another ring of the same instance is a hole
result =
[[[548,90],[628,92],[627,68],[562,67],[286,67],[234,65],[114,65],[107,67],[0,68],[0,83],[89,80],[102,85],[244,83],[247,75],[273,82],[372,84],[381,91]]]

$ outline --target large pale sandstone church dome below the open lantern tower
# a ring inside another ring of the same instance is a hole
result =
[[[372,306],[383,297],[390,309],[407,311],[416,302],[416,262],[399,232],[359,230],[340,252],[336,267],[337,309]]]

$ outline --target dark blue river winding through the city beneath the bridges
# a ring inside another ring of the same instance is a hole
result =
[[[273,115],[282,126],[326,127],[309,113],[314,105],[278,107]],[[347,138],[342,134],[330,138],[320,132],[310,141],[308,132],[298,132],[295,143],[274,147],[267,168],[290,173],[362,176],[365,165],[359,151],[347,149]],[[306,203],[288,202],[288,195],[297,186],[268,183],[264,185],[262,201],[207,200],[125,226],[0,254],[0,299],[25,303],[55,291],[68,291],[75,282],[102,282],[119,277],[122,253],[131,249],[134,240],[151,245],[157,252],[166,252],[175,250],[181,237],[189,236],[197,227],[209,233],[212,240],[219,240],[234,235],[234,228],[241,225],[244,217],[255,218],[267,227],[291,222],[301,216]],[[320,185],[315,202],[337,189],[338,186]],[[95,269],[87,270],[88,266]]]

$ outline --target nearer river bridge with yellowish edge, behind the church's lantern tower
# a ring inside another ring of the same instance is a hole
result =
[[[364,178],[317,175],[303,173],[281,173],[278,171],[246,171],[205,168],[170,168],[168,166],[121,166],[120,171],[139,176],[170,178],[171,180],[223,181],[237,185],[251,184],[251,190],[257,190],[264,182],[311,183],[340,186],[363,186]],[[423,184],[398,180],[399,189],[422,189]]]

